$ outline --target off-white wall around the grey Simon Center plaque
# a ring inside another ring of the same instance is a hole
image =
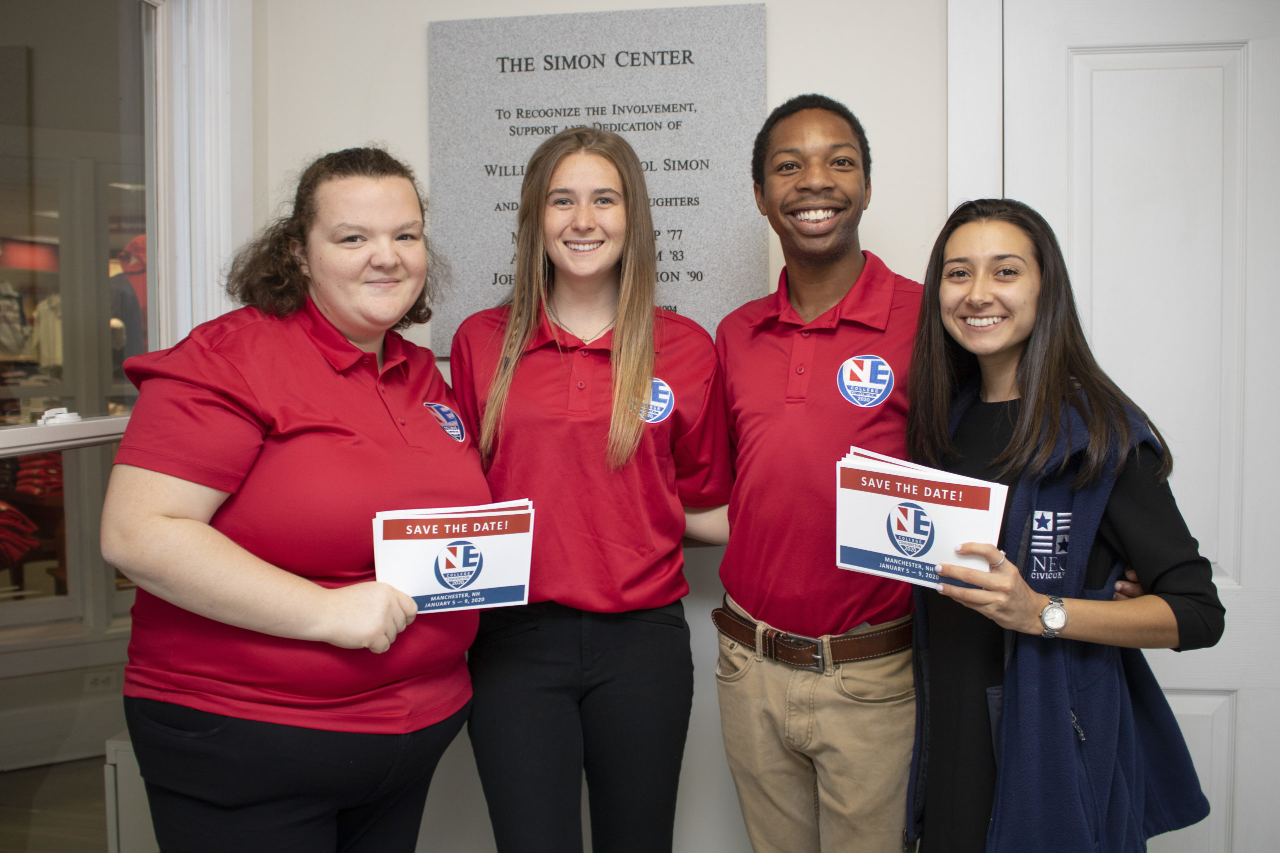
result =
[[[429,22],[667,4],[257,0],[256,5],[255,143],[257,180],[265,179],[265,185],[255,188],[255,215],[261,225],[288,198],[297,170],[326,151],[387,143],[430,187]],[[776,0],[765,8],[769,107],[792,95],[820,92],[858,115],[872,150],[873,192],[863,216],[863,248],[919,280],[946,220],[946,0]],[[750,180],[749,166],[742,164],[744,182]],[[776,276],[782,253],[772,238],[769,263]]]

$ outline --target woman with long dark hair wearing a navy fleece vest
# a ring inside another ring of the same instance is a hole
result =
[[[1142,411],[1098,367],[1052,229],[959,206],[924,280],[908,446],[1010,486],[997,544],[916,588],[909,838],[924,853],[1144,850],[1208,802],[1139,648],[1222,634],[1208,560]],[[1112,600],[1129,569],[1152,595]]]

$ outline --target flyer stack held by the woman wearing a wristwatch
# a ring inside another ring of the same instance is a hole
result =
[[[938,586],[940,563],[989,570],[983,558],[955,549],[998,540],[1007,492],[1000,483],[850,448],[836,464],[836,564],[925,587]]]

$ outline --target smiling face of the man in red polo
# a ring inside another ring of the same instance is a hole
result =
[[[755,205],[788,262],[835,261],[858,251],[858,224],[870,198],[861,147],[842,118],[800,110],[773,127]]]

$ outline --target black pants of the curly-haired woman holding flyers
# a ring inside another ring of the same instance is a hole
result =
[[[356,734],[124,700],[164,853],[412,853],[431,774],[470,710]]]

